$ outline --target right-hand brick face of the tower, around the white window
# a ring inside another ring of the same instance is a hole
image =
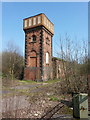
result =
[[[46,53],[49,54],[49,63],[46,63]],[[43,79],[52,78],[52,35],[47,30],[43,30]]]

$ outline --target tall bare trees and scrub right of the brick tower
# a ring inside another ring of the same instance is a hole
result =
[[[66,34],[60,38],[58,57],[62,60],[64,84],[67,92],[86,92],[87,90],[87,46],[85,41],[80,46]],[[82,69],[83,68],[83,69]]]

